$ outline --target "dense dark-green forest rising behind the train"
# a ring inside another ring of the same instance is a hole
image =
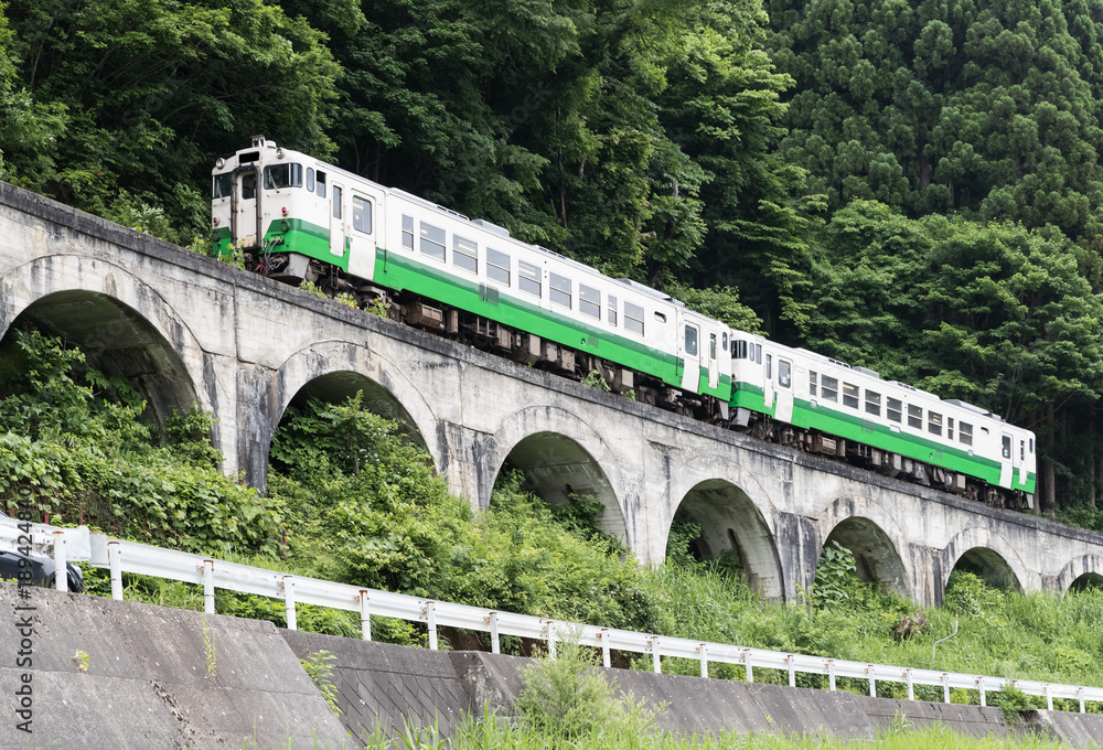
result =
[[[253,135],[1038,432],[1103,496],[1103,0],[10,0],[0,179],[202,247]]]

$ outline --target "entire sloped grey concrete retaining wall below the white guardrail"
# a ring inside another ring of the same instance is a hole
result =
[[[404,722],[436,724],[447,735],[464,711],[484,705],[508,715],[526,663],[52,590],[33,589],[23,599],[17,591],[0,583],[4,611],[31,623],[30,635],[12,628],[6,639],[11,654],[0,662],[0,682],[15,712],[0,729],[0,750],[203,750],[240,748],[245,740],[250,748],[352,748],[377,724],[394,731]],[[335,655],[330,681],[340,718],[300,662],[321,651]],[[1095,715],[1036,711],[1009,727],[998,708],[629,671],[612,677],[636,699],[665,703],[660,726],[677,732],[861,739],[903,724],[941,722],[973,737],[1036,727],[1072,747],[1103,737],[1103,717]],[[23,685],[31,688],[20,695]]]

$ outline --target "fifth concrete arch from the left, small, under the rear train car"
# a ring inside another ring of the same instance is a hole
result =
[[[849,549],[860,580],[875,581],[885,592],[914,597],[914,574],[901,553],[908,549],[908,536],[884,505],[863,495],[837,497],[821,513],[817,526],[821,550],[832,542]]]

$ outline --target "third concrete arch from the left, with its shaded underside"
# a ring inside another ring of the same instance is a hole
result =
[[[490,505],[494,480],[506,460],[525,473],[533,491],[550,503],[570,494],[588,495],[604,506],[598,525],[631,546],[617,469],[606,440],[589,424],[557,406],[517,409],[494,432],[496,456],[486,461],[493,474],[481,478],[480,507]]]

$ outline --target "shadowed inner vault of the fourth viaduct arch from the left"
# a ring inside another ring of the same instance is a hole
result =
[[[683,496],[675,517],[679,514],[700,526],[697,549],[702,557],[733,554],[748,586],[767,599],[784,600],[784,576],[773,533],[743,490],[727,480],[704,480]]]

